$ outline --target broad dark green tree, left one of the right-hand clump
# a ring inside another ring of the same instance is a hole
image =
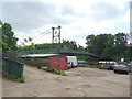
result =
[[[100,59],[112,59],[114,36],[111,34],[88,35],[87,50],[95,55],[98,55]]]

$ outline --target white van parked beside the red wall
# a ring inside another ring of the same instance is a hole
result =
[[[68,67],[77,67],[77,57],[76,56],[66,56],[68,61]]]

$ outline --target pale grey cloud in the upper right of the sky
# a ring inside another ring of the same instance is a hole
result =
[[[95,3],[90,8],[94,12],[92,18],[95,18],[96,21],[111,20],[124,14],[125,12],[120,10],[114,4],[106,2]]]

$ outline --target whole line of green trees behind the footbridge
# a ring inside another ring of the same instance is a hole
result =
[[[31,37],[24,38],[22,45],[16,45],[19,38],[14,35],[12,28],[8,23],[2,23],[0,21],[0,31],[2,34],[2,51],[24,51],[24,50],[35,50],[35,48],[53,48],[53,44],[34,44]],[[127,33],[117,34],[91,34],[86,37],[86,47],[77,44],[75,41],[63,40],[61,43],[61,48],[64,50],[79,50],[86,51],[98,55],[99,59],[105,61],[120,61],[125,58],[125,61],[132,61],[132,47],[127,46],[129,35]],[[29,43],[29,45],[26,45]],[[55,46],[54,46],[55,47]],[[57,47],[56,47],[57,48]],[[84,59],[95,61],[95,58],[89,56],[81,56]]]

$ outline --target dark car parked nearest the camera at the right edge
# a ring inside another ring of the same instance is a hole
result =
[[[131,72],[131,68],[125,64],[117,64],[114,65],[113,72],[129,74]]]

